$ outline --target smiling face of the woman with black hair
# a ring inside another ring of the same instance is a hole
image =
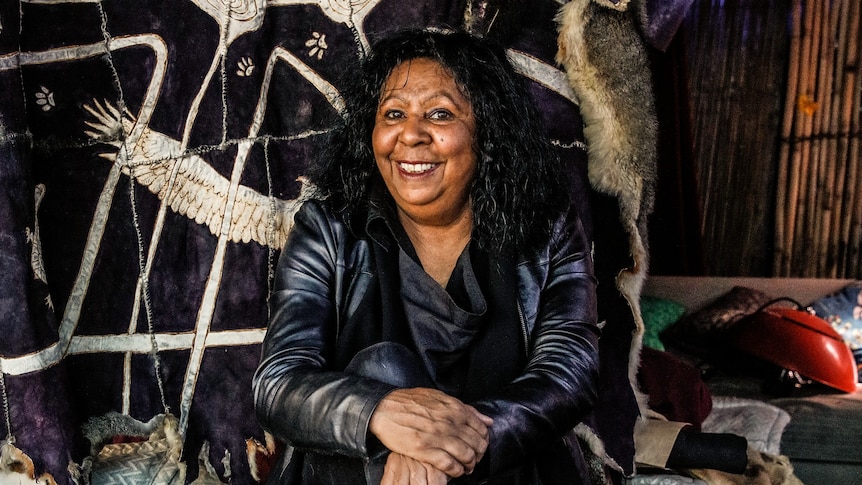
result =
[[[419,58],[392,70],[371,145],[402,216],[439,225],[469,213],[474,133],[470,101],[439,63]]]

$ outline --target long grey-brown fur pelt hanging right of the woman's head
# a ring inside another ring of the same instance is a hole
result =
[[[645,12],[643,0],[572,0],[557,15],[557,61],[580,102],[590,183],[619,200],[629,234],[634,264],[619,275],[617,286],[641,332],[638,298],[648,266],[646,224],[658,138],[649,58],[639,28]],[[640,335],[633,347],[632,382]]]

